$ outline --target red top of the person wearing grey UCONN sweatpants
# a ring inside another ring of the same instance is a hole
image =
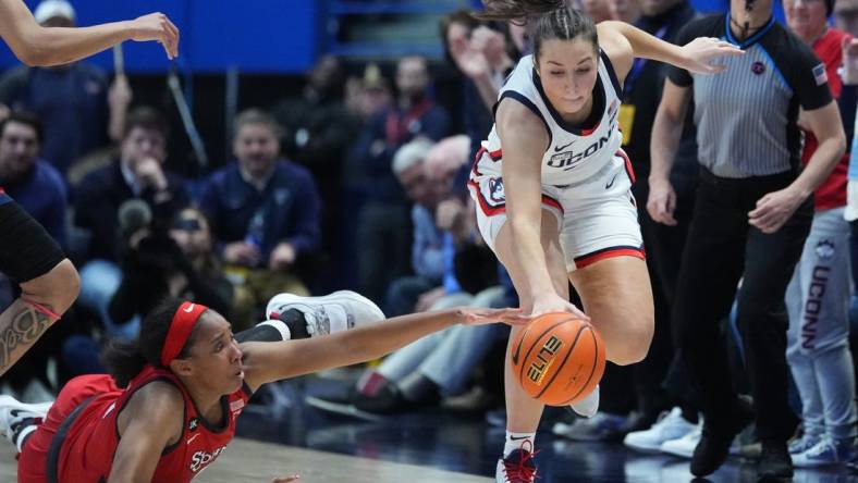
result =
[[[813,42],[813,52],[825,64],[825,74],[829,77],[829,88],[835,99],[841,97],[843,84],[837,69],[843,65],[843,39],[851,36],[836,28],[829,28],[822,37]],[[813,152],[817,151],[819,141],[813,133],[805,131],[805,150],[801,152],[801,162],[807,164]],[[813,194],[817,210],[830,210],[846,206],[846,182],[849,171],[849,153],[834,166],[828,178],[822,182]]]

